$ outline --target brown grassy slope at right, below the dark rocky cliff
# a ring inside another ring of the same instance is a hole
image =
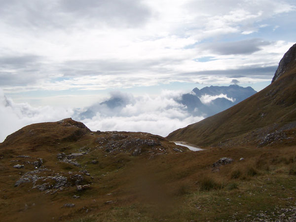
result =
[[[294,66],[295,67],[295,66]],[[241,140],[241,136],[277,123],[277,127],[296,121],[296,68],[281,76],[243,102],[178,129],[167,136],[173,141],[186,141],[199,146],[225,140]]]

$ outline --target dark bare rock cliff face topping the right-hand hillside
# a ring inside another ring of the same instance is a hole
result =
[[[289,65],[289,66],[288,66]],[[288,69],[295,68],[296,66],[296,44],[294,44],[281,59],[279,66],[272,78],[272,82],[277,80],[282,74],[284,74]]]

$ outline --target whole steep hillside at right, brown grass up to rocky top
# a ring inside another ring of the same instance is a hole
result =
[[[296,44],[285,54],[283,73],[269,86],[226,111],[167,136],[199,146],[295,143]],[[289,56],[286,56],[289,55]],[[291,59],[294,55],[294,59]]]

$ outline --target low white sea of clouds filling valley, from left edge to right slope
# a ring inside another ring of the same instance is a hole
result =
[[[20,128],[38,122],[59,121],[72,117],[92,131],[148,132],[167,136],[172,131],[200,121],[184,105],[176,102],[181,92],[163,91],[159,96],[133,96],[112,92],[108,99],[85,108],[33,107],[14,103],[0,91],[0,142]]]

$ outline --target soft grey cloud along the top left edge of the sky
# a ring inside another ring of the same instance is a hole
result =
[[[53,30],[85,27],[140,27],[151,16],[140,0],[0,1],[1,18],[19,28]]]

